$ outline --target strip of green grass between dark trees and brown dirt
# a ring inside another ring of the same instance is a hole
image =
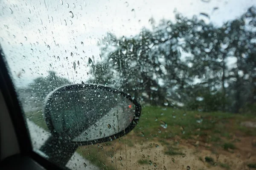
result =
[[[241,121],[256,121],[254,115],[236,115],[224,112],[184,111],[182,109],[147,106],[143,107],[139,124],[134,132],[145,140],[151,138],[184,139],[194,135],[211,135],[208,142],[218,142],[221,137],[229,138],[230,133],[239,130],[246,135],[256,136],[256,131],[240,126]]]

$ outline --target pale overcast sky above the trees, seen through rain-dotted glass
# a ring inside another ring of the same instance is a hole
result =
[[[136,35],[151,17],[173,20],[175,9],[187,17],[204,12],[221,26],[253,5],[256,0],[0,0],[0,44],[16,86],[49,70],[81,83],[88,59],[99,60],[97,43],[106,32]]]

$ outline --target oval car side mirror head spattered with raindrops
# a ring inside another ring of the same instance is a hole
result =
[[[56,138],[94,144],[129,133],[138,123],[140,111],[140,104],[124,92],[83,84],[51,92],[44,114]]]

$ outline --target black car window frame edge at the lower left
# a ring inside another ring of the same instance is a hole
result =
[[[47,170],[62,170],[63,168],[48,161],[33,150],[28,128],[25,123],[26,120],[23,116],[24,112],[21,109],[21,104],[18,101],[17,93],[10,75],[11,73],[9,72],[8,63],[4,58],[3,49],[0,46],[0,90],[3,94],[3,99],[6,102],[12,125],[15,130],[20,148],[20,156],[32,158]]]

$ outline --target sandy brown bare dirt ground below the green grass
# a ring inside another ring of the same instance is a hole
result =
[[[191,141],[178,140],[176,145],[178,152],[183,155],[166,155],[166,145],[158,141],[136,141],[134,146],[116,143],[115,154],[113,158],[107,157],[106,161],[111,162],[113,167],[118,170],[250,170],[248,163],[256,162],[256,147],[252,142],[255,137],[240,137],[236,143],[237,149],[224,150],[207,148],[207,144],[197,143],[197,146]],[[174,142],[174,141],[168,141]],[[111,148],[109,148],[111,150]],[[205,161],[205,157],[213,158],[214,162]],[[138,161],[143,162],[139,163]]]

